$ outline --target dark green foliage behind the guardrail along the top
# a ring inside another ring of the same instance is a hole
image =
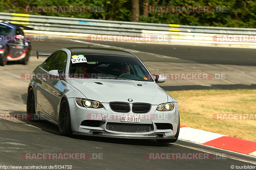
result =
[[[149,0],[152,6],[228,6],[226,13],[149,13],[140,0],[140,22],[194,26],[226,26],[256,28],[256,1],[254,0]],[[91,18],[132,21],[131,0],[0,0],[1,12],[24,13],[25,6],[104,6],[103,12],[85,13],[28,13],[59,17]]]

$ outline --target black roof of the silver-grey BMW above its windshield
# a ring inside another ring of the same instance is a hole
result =
[[[111,49],[111,48],[96,48],[96,47],[70,47],[71,55],[87,54],[87,55],[115,55],[120,57],[137,58],[130,52]]]

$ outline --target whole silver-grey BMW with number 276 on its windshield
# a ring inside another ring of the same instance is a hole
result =
[[[59,126],[61,135],[156,139],[176,142],[177,100],[134,54],[109,48],[72,47],[38,52],[48,58],[28,86],[27,113]]]

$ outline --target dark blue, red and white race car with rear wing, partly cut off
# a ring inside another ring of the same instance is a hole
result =
[[[31,30],[33,28],[0,20],[0,65],[4,66],[7,61],[28,63],[32,48],[22,29]]]

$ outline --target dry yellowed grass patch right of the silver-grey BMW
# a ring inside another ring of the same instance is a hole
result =
[[[168,91],[179,104],[180,125],[256,141],[256,120],[214,120],[216,113],[256,113],[256,90]]]

